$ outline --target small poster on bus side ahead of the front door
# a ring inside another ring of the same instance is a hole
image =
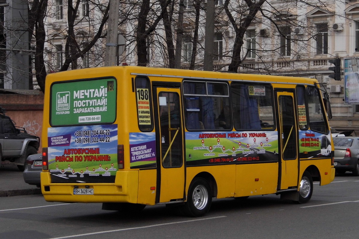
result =
[[[299,158],[330,157],[330,134],[299,130]]]

